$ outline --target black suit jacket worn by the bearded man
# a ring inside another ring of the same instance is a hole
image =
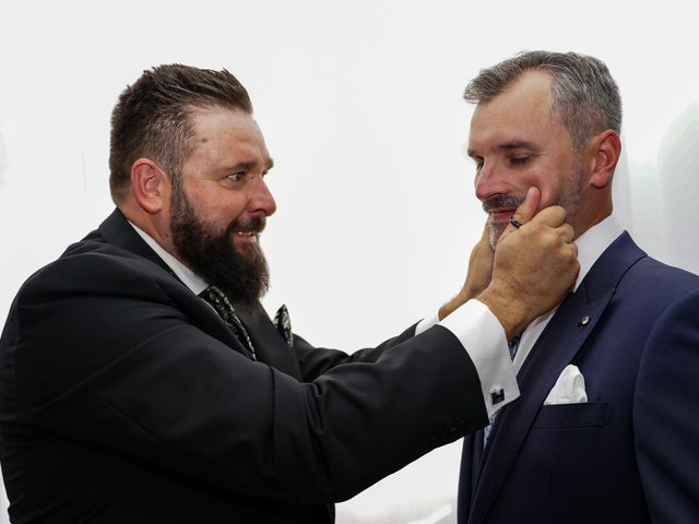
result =
[[[35,273],[0,340],[12,521],[330,523],[487,421],[440,326],[348,356],[241,317],[259,361],[119,211]]]

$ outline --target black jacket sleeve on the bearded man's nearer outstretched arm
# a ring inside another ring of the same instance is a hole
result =
[[[19,395],[61,438],[238,492],[328,502],[487,422],[446,329],[341,365],[306,355],[313,371],[298,381],[202,331],[179,291],[103,259],[55,264],[12,313]]]

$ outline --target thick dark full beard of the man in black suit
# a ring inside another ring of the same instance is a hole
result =
[[[264,218],[233,221],[222,233],[212,230],[194,211],[182,188],[171,198],[170,224],[177,257],[209,284],[215,285],[237,305],[254,309],[264,296],[270,272],[259,245],[247,245],[239,252],[233,245],[237,231],[260,233]]]

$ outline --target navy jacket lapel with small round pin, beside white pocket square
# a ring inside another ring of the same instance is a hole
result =
[[[548,392],[593,332],[618,282],[644,255],[627,233],[619,236],[595,262],[578,290],[561,302],[534,344],[518,377],[521,396],[501,410],[490,434],[470,524],[484,522]],[[478,466],[474,463],[472,467]]]

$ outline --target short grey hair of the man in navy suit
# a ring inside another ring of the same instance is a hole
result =
[[[528,70],[548,71],[553,78],[552,115],[568,130],[576,151],[590,136],[612,129],[621,134],[621,97],[602,60],[576,52],[529,51],[482,70],[464,91],[466,102],[493,99]]]

